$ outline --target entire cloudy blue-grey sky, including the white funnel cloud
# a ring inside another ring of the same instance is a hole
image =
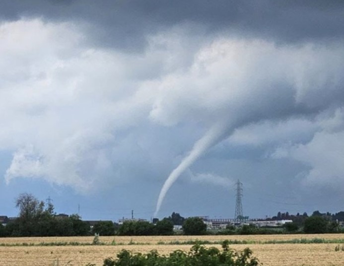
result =
[[[0,215],[344,210],[342,0],[0,1]]]

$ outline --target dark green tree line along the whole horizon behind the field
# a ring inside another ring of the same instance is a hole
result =
[[[0,237],[87,236],[95,233],[104,236],[173,235],[175,234],[174,225],[182,226],[182,233],[185,235],[337,233],[343,232],[338,220],[344,219],[343,211],[336,214],[314,211],[311,216],[308,216],[307,213],[289,215],[288,212],[278,212],[270,220],[284,218],[290,219],[292,222],[285,223],[277,228],[260,228],[253,224],[244,224],[241,226],[228,225],[224,229],[207,231],[206,224],[201,218],[184,218],[179,213],[173,212],[171,216],[162,220],[153,219],[153,223],[128,220],[119,225],[112,221],[99,221],[90,226],[88,222],[82,221],[77,214],[66,215],[66,217],[56,215],[52,203],[45,204],[44,201],[39,201],[31,194],[20,194],[15,203],[19,209],[18,218],[10,221],[6,226],[0,224]]]

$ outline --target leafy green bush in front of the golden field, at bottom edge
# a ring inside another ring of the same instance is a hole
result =
[[[143,255],[122,250],[117,259],[104,260],[104,266],[259,266],[259,260],[252,257],[252,251],[246,248],[238,253],[229,249],[228,241],[222,243],[222,251],[194,245],[190,252],[176,250],[169,256],[160,256],[156,250]]]

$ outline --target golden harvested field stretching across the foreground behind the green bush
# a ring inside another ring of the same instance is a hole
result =
[[[0,266],[85,266],[95,263],[101,266],[103,259],[116,257],[122,249],[133,252],[148,252],[156,249],[162,254],[173,250],[188,251],[191,245],[157,245],[158,242],[207,240],[220,241],[225,239],[237,240],[287,240],[295,238],[324,238],[344,239],[343,234],[334,235],[264,235],[264,236],[169,236],[169,237],[100,237],[100,241],[111,243],[129,243],[131,240],[145,245],[118,246],[0,246]],[[0,244],[42,242],[79,242],[91,243],[93,237],[44,237],[44,238],[0,238]],[[219,245],[207,245],[220,248]],[[247,244],[230,245],[232,249],[243,250],[249,247],[265,266],[342,266],[344,251],[335,251],[337,244]],[[57,264],[57,262],[59,262]]]

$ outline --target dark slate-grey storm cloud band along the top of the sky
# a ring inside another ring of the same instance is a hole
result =
[[[194,31],[271,39],[277,43],[343,38],[344,1],[5,0],[3,19],[39,16],[86,22],[97,45],[137,49],[145,36],[177,24]]]

